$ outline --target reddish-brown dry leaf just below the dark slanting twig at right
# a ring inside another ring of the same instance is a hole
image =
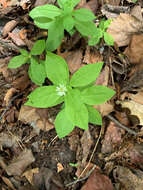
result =
[[[110,122],[105,137],[102,143],[102,153],[111,153],[116,146],[119,146],[122,142],[122,134],[124,130],[116,126],[115,123]]]

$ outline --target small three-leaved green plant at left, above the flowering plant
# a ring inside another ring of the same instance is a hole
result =
[[[21,55],[13,57],[8,68],[18,68],[23,64],[30,63],[28,74],[30,79],[37,85],[41,86],[46,78],[45,63],[38,58],[38,55],[42,54],[45,50],[45,40],[38,40],[35,42],[30,53],[21,49]]]

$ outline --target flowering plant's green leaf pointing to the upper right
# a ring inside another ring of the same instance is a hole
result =
[[[85,65],[76,71],[71,80],[70,85],[73,87],[86,86],[94,81],[98,77],[103,66],[103,62]]]

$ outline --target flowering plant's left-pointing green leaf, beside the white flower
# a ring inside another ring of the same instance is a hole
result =
[[[63,97],[58,95],[56,86],[41,86],[36,88],[28,98],[29,100],[25,105],[36,108],[53,107],[63,102]]]

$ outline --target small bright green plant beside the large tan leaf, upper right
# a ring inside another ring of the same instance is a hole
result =
[[[114,45],[114,39],[113,37],[106,32],[108,29],[109,25],[111,23],[111,19],[104,20],[102,19],[99,23],[99,26],[97,28],[98,32],[92,35],[92,37],[89,40],[89,45],[93,46],[95,44],[98,44],[100,42],[101,38],[104,38],[104,41],[107,45],[113,46]],[[98,35],[97,35],[98,34]]]

